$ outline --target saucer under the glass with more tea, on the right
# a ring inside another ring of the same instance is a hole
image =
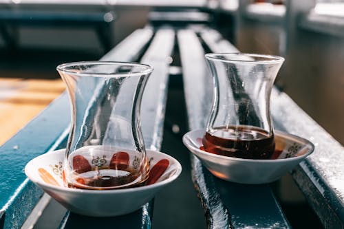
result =
[[[289,133],[275,131],[276,151],[280,152],[270,160],[227,157],[202,151],[204,130],[186,133],[185,146],[198,157],[202,164],[216,177],[241,184],[264,184],[274,182],[292,170],[314,151],[312,142]]]

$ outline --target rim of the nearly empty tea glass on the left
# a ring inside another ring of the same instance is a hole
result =
[[[133,67],[142,67],[142,71],[131,72],[131,73],[106,73],[106,72],[74,72],[72,69],[67,69],[67,67],[81,66],[81,65],[118,65],[118,66],[133,66]],[[125,61],[76,61],[70,63],[63,63],[56,67],[58,72],[64,72],[67,74],[73,74],[76,76],[93,76],[93,77],[128,77],[128,76],[142,76],[151,74],[153,72],[153,67],[143,63],[136,62],[125,62]]]

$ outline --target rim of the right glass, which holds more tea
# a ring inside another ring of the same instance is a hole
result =
[[[206,59],[212,61],[222,61],[226,63],[259,63],[259,64],[272,64],[272,63],[282,63],[284,58],[282,56],[275,56],[270,54],[252,54],[245,52],[219,52],[219,53],[208,53],[204,55]],[[228,58],[220,58],[220,56],[228,56]],[[230,59],[230,56],[248,56],[252,58],[266,58],[264,60],[237,60]]]

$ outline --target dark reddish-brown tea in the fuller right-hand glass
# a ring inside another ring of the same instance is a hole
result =
[[[202,150],[229,157],[270,159],[275,151],[274,135],[257,127],[216,127],[202,142]]]

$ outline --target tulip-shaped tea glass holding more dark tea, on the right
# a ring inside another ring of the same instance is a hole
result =
[[[262,54],[206,54],[215,85],[205,151],[269,159],[275,151],[270,94],[284,61]]]

